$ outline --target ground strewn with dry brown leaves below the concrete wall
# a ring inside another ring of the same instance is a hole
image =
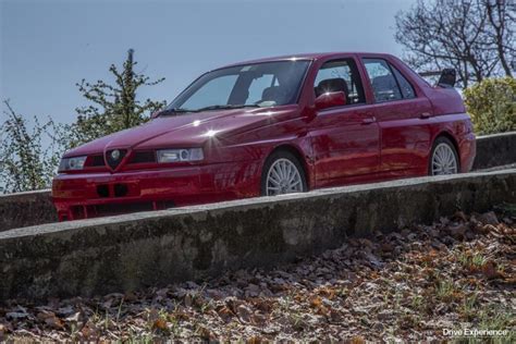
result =
[[[349,238],[272,271],[204,284],[12,300],[0,306],[0,342],[441,341],[469,329],[514,343],[515,208]]]

